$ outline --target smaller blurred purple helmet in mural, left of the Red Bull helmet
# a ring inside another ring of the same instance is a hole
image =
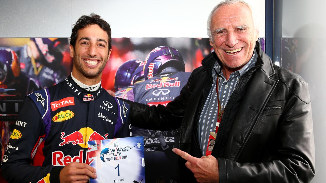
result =
[[[114,89],[118,91],[139,81],[144,76],[143,67],[144,62],[139,59],[123,63],[115,73]]]

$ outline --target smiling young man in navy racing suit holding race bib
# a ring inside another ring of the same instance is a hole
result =
[[[93,13],[82,16],[69,48],[71,75],[25,97],[2,161],[8,182],[88,182],[97,175],[87,164],[96,154],[87,141],[131,136],[129,106],[101,87],[110,25]]]

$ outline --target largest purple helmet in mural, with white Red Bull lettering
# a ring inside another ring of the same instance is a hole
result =
[[[153,49],[144,63],[145,80],[162,72],[164,68],[174,67],[178,71],[185,71],[185,63],[180,52],[170,46],[160,46]]]

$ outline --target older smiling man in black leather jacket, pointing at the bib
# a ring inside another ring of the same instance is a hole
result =
[[[128,102],[132,125],[181,126],[173,149],[185,160],[181,182],[309,182],[315,148],[307,83],[262,52],[246,2],[219,3],[207,31],[214,52],[180,95],[167,106]]]

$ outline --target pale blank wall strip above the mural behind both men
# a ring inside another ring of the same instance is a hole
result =
[[[69,37],[71,25],[94,12],[113,37],[207,37],[206,21],[220,0],[0,0],[0,37]],[[247,0],[265,37],[265,1]]]

